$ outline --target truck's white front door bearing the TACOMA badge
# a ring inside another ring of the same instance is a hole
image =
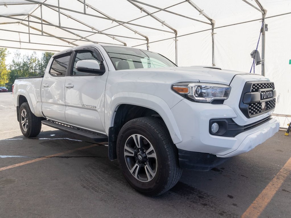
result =
[[[105,133],[104,94],[108,67],[95,47],[77,48],[65,81],[65,116],[67,123],[84,129]],[[79,60],[97,60],[103,75],[76,70]]]

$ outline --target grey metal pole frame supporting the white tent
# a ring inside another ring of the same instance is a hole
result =
[[[86,3],[86,0],[72,0],[72,1],[79,2],[80,4],[84,5],[84,9],[82,8],[82,10],[80,10],[80,11],[72,10],[70,8],[61,7],[60,6],[61,0],[57,0],[58,5],[49,4],[49,3],[47,3],[47,1],[49,1],[49,0],[44,0],[44,1],[25,0],[25,1],[19,1],[19,2],[13,2],[13,1],[12,2],[0,2],[0,6],[5,6],[7,8],[8,8],[8,6],[13,7],[13,6],[17,6],[17,5],[18,6],[19,5],[35,5],[36,6],[30,13],[0,14],[0,17],[11,20],[9,22],[3,22],[0,24],[19,24],[19,25],[21,24],[21,25],[27,27],[27,32],[1,28],[0,29],[1,31],[18,33],[19,34],[19,41],[13,40],[13,39],[0,39],[0,40],[8,41],[8,42],[17,42],[20,45],[21,45],[21,43],[22,44],[28,43],[28,44],[56,46],[56,45],[49,44],[49,43],[32,42],[32,40],[31,40],[31,36],[54,37],[55,39],[58,39],[61,42],[68,43],[68,45],[62,44],[62,45],[57,45],[57,46],[72,47],[72,46],[78,46],[80,42],[106,43],[106,44],[127,46],[127,43],[123,39],[134,39],[134,40],[146,41],[146,42],[143,44],[134,45],[132,47],[146,45],[147,49],[149,50],[150,43],[161,42],[164,40],[173,39],[173,40],[175,40],[175,62],[176,62],[176,64],[178,64],[178,37],[183,37],[186,35],[200,33],[203,31],[211,31],[212,66],[215,66],[215,55],[214,55],[214,52],[215,52],[214,51],[214,43],[215,43],[214,34],[215,33],[214,33],[214,30],[216,28],[222,28],[225,26],[215,27],[215,20],[212,19],[211,17],[209,17],[207,15],[207,13],[204,12],[204,10],[201,9],[198,5],[196,5],[192,0],[184,0],[184,1],[181,0],[181,2],[176,3],[174,5],[171,5],[171,6],[168,6],[166,8],[161,8],[161,7],[151,5],[151,4],[142,2],[142,1],[137,1],[137,0],[124,0],[124,1],[131,3],[136,8],[138,8],[140,10],[140,12],[144,12],[146,14],[144,16],[137,17],[137,18],[132,19],[130,21],[122,21],[122,20],[115,19],[111,15],[108,15],[107,13],[99,10],[98,8]],[[250,3],[248,0],[241,0],[241,1],[248,4],[249,6],[256,9],[258,12],[260,12],[262,14],[262,19],[257,19],[257,20],[261,20],[263,22],[262,41],[261,41],[261,44],[262,44],[262,75],[265,75],[265,61],[264,61],[265,60],[265,19],[267,18],[266,17],[267,10],[262,6],[262,4],[260,3],[259,0],[254,0],[254,2],[256,3],[256,6],[253,5],[252,3]],[[188,16],[185,16],[183,14],[179,14],[179,13],[173,12],[171,10],[168,10],[168,9],[173,9],[176,6],[181,5],[181,4],[187,4],[189,7],[194,8],[199,13],[199,15],[202,15],[202,17],[204,17],[206,20],[208,20],[208,22],[203,21],[203,19],[196,19],[193,17],[188,17]],[[145,6],[147,8],[152,8],[153,10],[155,9],[156,11],[150,12],[148,9],[145,8]],[[43,13],[44,13],[43,8],[44,7],[49,9],[49,11],[51,11],[51,12],[58,13],[58,24],[52,23],[52,22],[49,22],[49,21],[43,19]],[[39,8],[40,8],[40,17],[35,15],[35,12]],[[94,14],[88,13],[88,8],[90,8],[90,11],[93,11]],[[100,30],[97,28],[96,25],[88,24],[88,23],[82,21],[81,19],[66,13],[65,11],[73,13],[73,14],[78,15],[78,16],[79,15],[86,16],[86,17],[88,16],[88,17],[94,17],[94,18],[98,18],[98,19],[111,21],[112,23],[116,23],[116,25],[111,26],[109,28],[105,28],[104,30]],[[203,23],[205,25],[210,25],[211,28],[206,28],[206,29],[201,30],[201,31],[196,31],[196,32],[188,33],[188,34],[184,34],[184,35],[178,35],[178,30],[173,28],[173,26],[171,25],[171,21],[163,21],[160,17],[155,15],[158,12],[165,12],[165,13],[168,13],[171,15],[182,17],[183,19],[191,20],[193,22],[200,22],[200,23]],[[22,17],[22,18],[20,18],[20,17]],[[150,18],[154,19],[155,21],[159,22],[163,27],[165,26],[168,30],[165,30],[164,28],[159,29],[159,28],[156,28],[153,26],[147,26],[147,25],[141,25],[141,24],[134,23],[134,21],[138,21],[138,20],[145,18],[145,17],[150,17]],[[63,26],[62,19],[64,19],[64,18],[68,18],[75,23],[81,24],[81,26],[84,28],[72,28],[72,27],[68,27],[68,26]],[[254,20],[252,20],[252,21],[254,21]],[[251,22],[251,21],[246,21],[246,22]],[[231,24],[231,25],[237,25],[237,24],[241,24],[241,23],[236,23],[236,24]],[[227,25],[227,26],[231,26],[231,25]],[[41,26],[41,28],[38,26]],[[68,33],[72,37],[64,37],[61,35],[56,35],[56,34],[49,32],[49,31],[44,31],[44,28],[43,28],[44,26],[51,26],[51,27],[58,28],[59,30],[62,30],[64,32]],[[133,33],[135,35],[138,35],[139,37],[133,37],[131,35],[120,35],[120,34],[107,33],[107,31],[113,30],[114,28],[117,28],[120,26],[129,30],[131,32],[131,34]],[[171,33],[171,34],[174,34],[174,36],[167,37],[167,38],[161,39],[161,40],[150,41],[150,38],[148,35],[146,35],[145,33],[142,33],[141,31],[136,30],[134,27],[155,30],[155,31],[159,31],[161,33]],[[90,30],[88,30],[88,28]],[[31,33],[31,30],[39,32],[39,34],[38,33]],[[82,33],[81,35],[80,35],[80,32]],[[21,40],[20,33],[27,34],[29,40],[28,41]],[[101,41],[98,41],[98,40],[96,41],[96,40],[92,40],[89,38],[89,37],[92,38],[93,36],[96,36],[96,35],[104,35],[104,36],[109,37],[113,40],[116,40],[118,43],[101,42]],[[73,36],[77,37],[77,39],[73,38]],[[6,46],[1,46],[1,47],[6,47]],[[6,48],[17,48],[17,47],[6,47]],[[33,50],[37,50],[37,49],[33,49]],[[42,49],[40,49],[40,50],[42,50]],[[54,51],[54,50],[50,50],[50,51]]]

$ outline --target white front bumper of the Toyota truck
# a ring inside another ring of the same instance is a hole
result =
[[[237,117],[235,111],[228,105],[196,103],[184,99],[171,111],[182,137],[182,142],[176,144],[177,148],[213,154],[217,157],[232,157],[248,152],[279,130],[278,121],[270,119],[263,122],[262,125],[237,134],[235,137],[215,136],[209,133],[211,119],[233,118],[235,120]],[[269,113],[261,115],[255,118],[254,122],[258,118],[267,118],[269,115]]]

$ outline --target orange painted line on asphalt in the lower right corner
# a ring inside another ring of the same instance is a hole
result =
[[[268,203],[272,200],[276,192],[279,190],[287,176],[291,171],[291,158],[285,163],[282,169],[266,186],[261,194],[253,201],[249,208],[244,212],[241,218],[257,218],[262,211],[266,208]]]

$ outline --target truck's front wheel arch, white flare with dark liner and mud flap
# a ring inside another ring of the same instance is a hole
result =
[[[173,113],[163,99],[144,93],[118,93],[112,99],[106,120],[110,160],[117,158],[116,141],[121,127],[134,118],[158,117],[164,121],[173,143],[182,141]]]

